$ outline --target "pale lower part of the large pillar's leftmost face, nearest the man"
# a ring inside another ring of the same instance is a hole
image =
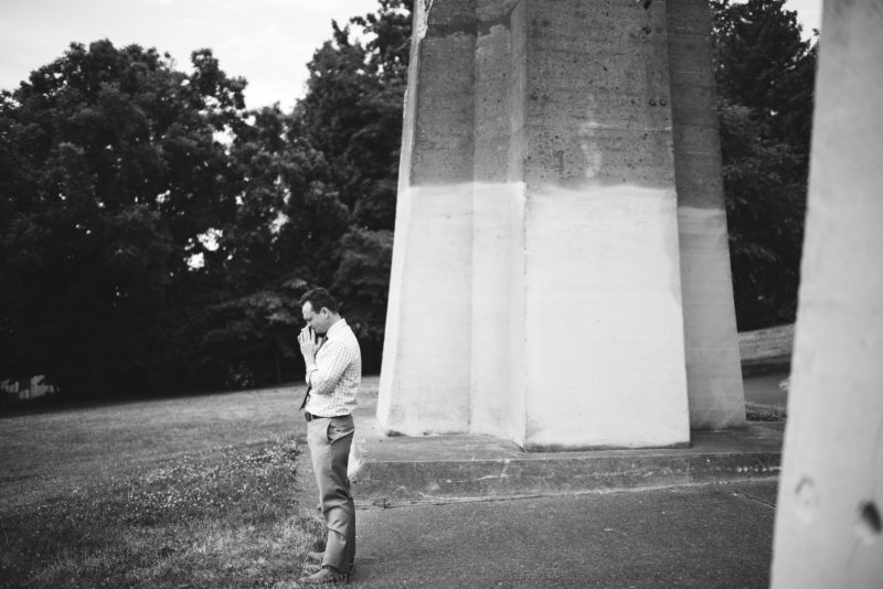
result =
[[[409,436],[461,432],[471,407],[472,186],[411,186],[398,202],[377,418]]]

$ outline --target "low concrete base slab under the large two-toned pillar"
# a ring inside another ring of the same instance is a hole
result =
[[[361,504],[583,493],[764,479],[778,474],[783,424],[694,432],[690,448],[523,452],[490,436],[393,437],[360,397],[351,460]]]

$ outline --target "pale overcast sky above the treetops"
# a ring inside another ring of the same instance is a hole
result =
[[[629,0],[623,0],[629,1]],[[304,95],[307,62],[331,36],[331,19],[373,12],[376,0],[0,0],[0,88],[14,89],[76,41],[109,39],[170,53],[189,69],[210,47],[221,68],[248,81],[249,108]],[[820,29],[821,0],[788,0],[806,32]]]

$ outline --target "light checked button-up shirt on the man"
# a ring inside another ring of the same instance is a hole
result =
[[[350,415],[362,382],[362,352],[352,329],[341,319],[328,330],[316,353],[316,364],[307,366],[310,387],[305,409],[320,417]]]

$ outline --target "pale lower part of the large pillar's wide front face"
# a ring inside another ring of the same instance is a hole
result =
[[[674,192],[546,186],[526,206],[524,446],[689,442]]]

